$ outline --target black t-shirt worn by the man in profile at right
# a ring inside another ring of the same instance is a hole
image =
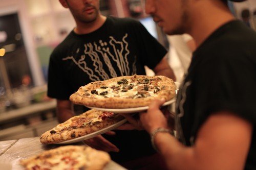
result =
[[[186,145],[194,144],[211,113],[230,111],[248,120],[253,136],[245,169],[256,169],[255,47],[256,33],[241,21],[220,27],[193,54],[176,104],[176,128]]]

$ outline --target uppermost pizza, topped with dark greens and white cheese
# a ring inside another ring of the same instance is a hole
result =
[[[82,86],[70,100],[88,107],[136,108],[148,106],[155,99],[169,101],[175,90],[175,82],[164,76],[122,76]]]

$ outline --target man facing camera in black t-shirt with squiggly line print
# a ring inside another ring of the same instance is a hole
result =
[[[166,50],[139,21],[101,15],[99,0],[60,0],[60,3],[70,9],[76,21],[75,29],[50,57],[48,96],[57,99],[60,123],[75,115],[70,95],[90,82],[145,75],[144,66],[153,69],[156,75],[175,80],[164,57]],[[86,143],[96,149],[114,151],[110,154],[118,163],[155,154],[145,131],[115,133],[105,135],[108,140],[99,135]]]

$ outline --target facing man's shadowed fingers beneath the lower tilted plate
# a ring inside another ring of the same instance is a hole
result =
[[[101,150],[101,151],[105,151],[105,152],[111,152],[111,151],[119,152],[119,149],[116,147],[116,145],[114,145],[110,141],[106,140],[101,135],[98,135],[94,138],[85,140],[84,142],[86,144],[88,144],[90,147],[97,149],[97,150]]]

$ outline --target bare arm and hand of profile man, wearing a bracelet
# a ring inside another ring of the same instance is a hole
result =
[[[141,113],[145,129],[166,128],[156,102]],[[159,106],[158,106],[159,104]],[[186,147],[168,133],[157,133],[155,145],[170,169],[243,169],[250,147],[252,125],[230,112],[211,114],[199,129],[192,147]]]

